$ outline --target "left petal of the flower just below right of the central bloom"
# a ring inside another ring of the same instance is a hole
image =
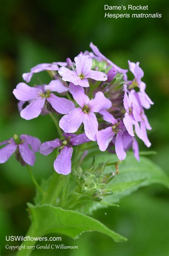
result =
[[[112,131],[112,127],[108,127],[104,130],[98,131],[97,136],[97,144],[101,151],[105,151],[108,147],[108,144],[114,137],[115,132]]]

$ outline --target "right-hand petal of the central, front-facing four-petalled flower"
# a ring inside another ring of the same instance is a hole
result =
[[[94,99],[89,101],[92,112],[99,112],[112,106],[112,102],[108,100],[102,92],[97,92]]]

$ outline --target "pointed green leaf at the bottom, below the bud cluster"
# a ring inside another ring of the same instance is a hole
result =
[[[111,237],[115,242],[127,240],[114,231],[109,230],[96,219],[81,213],[68,211],[47,204],[34,206],[28,203],[28,206],[36,236],[59,233],[76,239],[83,232],[97,231]]]

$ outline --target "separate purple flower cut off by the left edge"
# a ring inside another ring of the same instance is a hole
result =
[[[14,135],[14,138],[3,141],[1,145],[5,145],[4,148],[0,149],[0,163],[5,163],[14,152],[16,152],[16,159],[22,165],[34,165],[35,154],[34,152],[39,151],[41,141],[36,137],[22,134],[20,138]],[[31,149],[29,148],[31,146]]]

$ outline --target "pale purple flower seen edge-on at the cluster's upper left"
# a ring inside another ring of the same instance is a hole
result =
[[[31,81],[31,78],[34,73],[39,73],[39,72],[45,71],[45,70],[57,71],[59,69],[58,66],[66,66],[66,65],[67,65],[66,62],[53,62],[53,63],[38,64],[35,67],[31,68],[31,72],[24,73],[22,75],[22,77],[27,83],[29,83]]]

